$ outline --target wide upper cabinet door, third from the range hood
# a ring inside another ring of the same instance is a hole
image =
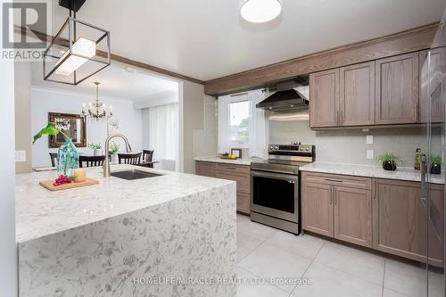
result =
[[[377,125],[417,123],[418,98],[418,53],[376,60]]]

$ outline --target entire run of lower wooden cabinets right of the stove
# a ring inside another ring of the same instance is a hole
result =
[[[302,228],[411,260],[425,261],[427,248],[442,267],[443,186],[429,185],[430,205],[420,192],[419,182],[303,172]]]

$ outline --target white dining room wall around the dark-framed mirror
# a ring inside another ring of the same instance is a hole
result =
[[[100,90],[99,90],[100,91]],[[80,113],[82,103],[89,103],[95,99],[95,95],[62,92],[56,89],[32,87],[31,89],[31,133],[35,135],[46,126],[48,112]],[[119,120],[119,131],[128,137],[133,152],[143,150],[143,122],[142,112],[136,110],[133,103],[117,98],[103,97],[99,93],[99,99],[107,106],[113,106],[113,118]],[[104,144],[107,137],[107,125],[104,121],[87,120],[87,144]],[[120,151],[125,152],[125,145],[120,139]],[[101,149],[103,151],[104,147]],[[78,148],[79,153],[93,154],[89,148]],[[32,166],[51,165],[48,153],[57,152],[55,148],[48,148],[47,136],[37,140],[32,147]]]

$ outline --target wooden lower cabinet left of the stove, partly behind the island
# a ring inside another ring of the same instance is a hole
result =
[[[212,161],[195,161],[195,173],[204,177],[233,180],[237,187],[237,211],[250,214],[251,167]]]

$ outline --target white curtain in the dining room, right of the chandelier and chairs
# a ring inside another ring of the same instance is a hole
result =
[[[143,110],[143,144],[153,150],[155,167],[178,170],[178,103]]]

